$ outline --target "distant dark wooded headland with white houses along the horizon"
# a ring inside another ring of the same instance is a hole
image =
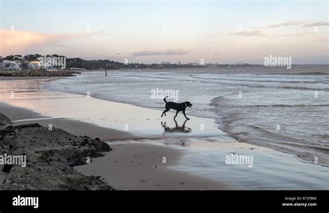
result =
[[[53,62],[63,62],[65,59],[65,66],[63,64],[53,65]],[[50,70],[55,69],[173,69],[173,68],[207,68],[207,67],[254,67],[262,65],[251,65],[247,63],[239,64],[214,64],[201,62],[191,62],[187,64],[171,62],[161,62],[144,64],[144,63],[131,63],[128,60],[124,62],[117,62],[114,60],[84,60],[82,58],[67,58],[56,54],[42,56],[40,54],[28,54],[26,56],[11,55],[0,57],[0,69],[32,69],[32,70]]]

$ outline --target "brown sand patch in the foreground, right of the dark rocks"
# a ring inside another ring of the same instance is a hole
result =
[[[165,146],[126,143],[110,144],[113,148],[91,164],[78,166],[81,173],[101,176],[115,189],[127,190],[222,190],[234,189],[208,178],[167,167],[178,164],[183,151]],[[164,158],[165,157],[165,163]]]

